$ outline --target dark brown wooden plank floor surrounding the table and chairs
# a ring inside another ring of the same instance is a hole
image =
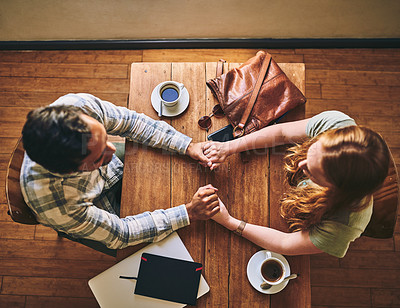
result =
[[[244,62],[255,52],[0,51],[0,307],[97,307],[87,282],[115,262],[6,214],[3,179],[26,113],[70,92],[126,105],[132,62]],[[399,49],[269,52],[277,62],[306,64],[307,116],[327,109],[349,114],[386,138],[400,167]],[[311,284],[315,308],[400,307],[399,219],[392,239],[361,238],[343,259],[312,256]]]

